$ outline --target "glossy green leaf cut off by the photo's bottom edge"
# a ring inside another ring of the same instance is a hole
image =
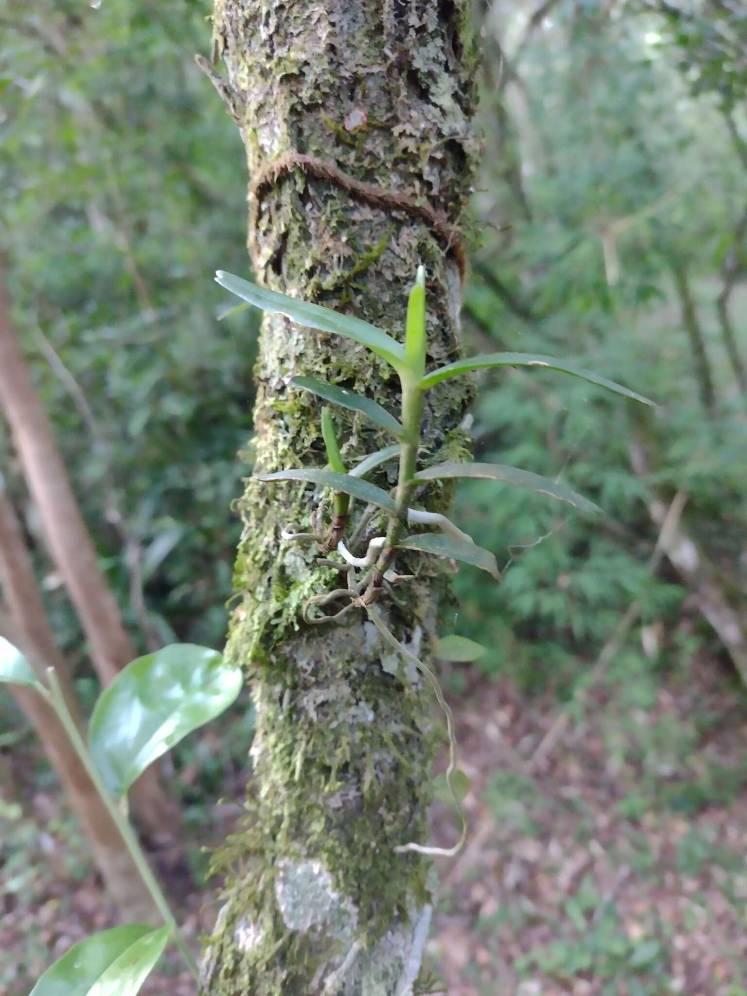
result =
[[[87,937],[47,969],[30,996],[132,996],[169,933],[170,927],[131,924]]]

